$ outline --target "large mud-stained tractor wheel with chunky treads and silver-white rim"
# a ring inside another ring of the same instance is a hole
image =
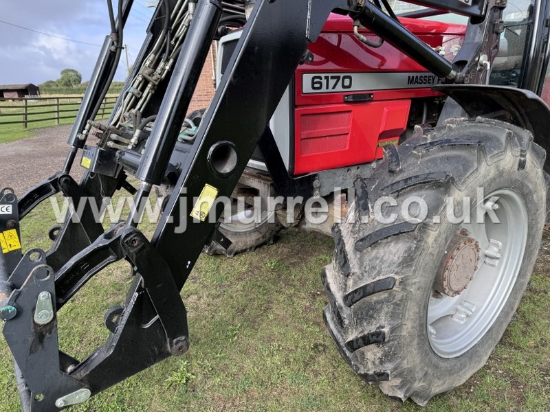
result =
[[[547,188],[527,130],[452,119],[417,134],[356,182],[322,281],[353,370],[425,405],[500,341],[538,254]]]

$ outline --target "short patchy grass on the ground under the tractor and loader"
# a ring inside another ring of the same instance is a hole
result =
[[[23,220],[26,248],[47,248],[50,203]],[[144,226],[151,234],[153,225]],[[288,230],[278,242],[233,259],[202,255],[181,295],[190,350],[100,393],[74,411],[548,411],[550,242],[516,320],[465,385],[424,409],[382,395],[342,361],[322,321],[320,268],[331,239]],[[60,319],[65,352],[84,358],[107,337],[102,319],[129,287],[119,263],[96,276]],[[146,342],[142,343],[146,345]],[[10,352],[0,342],[0,410],[19,411]]]

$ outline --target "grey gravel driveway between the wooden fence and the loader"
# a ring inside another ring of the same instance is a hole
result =
[[[21,197],[34,185],[63,168],[69,152],[72,125],[36,129],[36,135],[0,144],[0,189],[12,187]],[[78,181],[83,168],[77,155],[72,176]]]

